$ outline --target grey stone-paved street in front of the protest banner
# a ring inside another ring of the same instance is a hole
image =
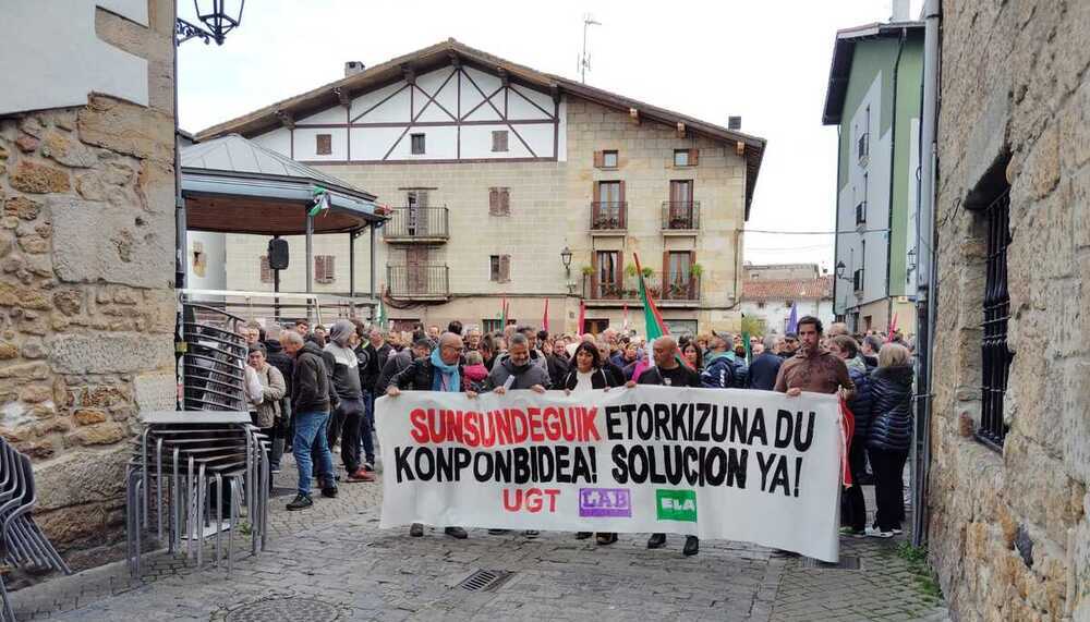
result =
[[[289,463],[290,464],[290,463]],[[293,471],[293,469],[292,469]],[[292,471],[278,484],[288,486]],[[237,542],[234,570],[197,572],[183,556],[146,557],[140,580],[123,563],[57,577],[12,595],[20,620],[945,620],[901,538],[841,540],[860,570],[804,568],[808,560],[729,541],[681,556],[680,536],[649,551],[646,536],[609,547],[571,534],[467,540],[438,530],[410,538],[378,529],[379,484],[344,484],[335,499],[287,512],[274,500],[268,549]],[[870,489],[868,489],[870,490]],[[477,570],[511,574],[494,589],[459,583]]]

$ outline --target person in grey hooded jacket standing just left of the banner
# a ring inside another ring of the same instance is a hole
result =
[[[329,329],[329,343],[325,354],[332,357],[332,386],[339,403],[330,423],[329,447],[341,436],[341,460],[348,472],[348,481],[374,481],[375,476],[360,463],[360,426],[366,405],[360,387],[360,359],[355,355],[359,338],[355,325],[339,319]]]

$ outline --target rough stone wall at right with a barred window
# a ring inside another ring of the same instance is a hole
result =
[[[931,558],[959,620],[1088,620],[1090,2],[943,10]],[[989,169],[1010,184],[1002,453],[972,437],[986,241],[966,208]]]

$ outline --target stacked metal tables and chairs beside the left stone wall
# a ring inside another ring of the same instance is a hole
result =
[[[133,576],[141,573],[142,539],[153,525],[160,542],[166,537],[169,552],[181,551],[185,540],[185,556],[196,558],[198,569],[206,540],[213,536],[219,566],[225,530],[228,573],[234,563],[237,530],[249,526],[253,554],[265,548],[269,440],[246,412],[247,349],[237,331],[242,321],[207,306],[183,307],[186,347],[180,365],[185,410],[142,414],[145,428],[133,441],[125,477],[125,533]]]

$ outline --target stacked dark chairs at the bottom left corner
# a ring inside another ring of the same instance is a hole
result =
[[[71,574],[57,549],[34,522],[31,510],[37,502],[31,459],[0,438],[0,561],[11,566],[51,569]],[[15,620],[8,589],[0,575],[3,608],[0,620]]]

